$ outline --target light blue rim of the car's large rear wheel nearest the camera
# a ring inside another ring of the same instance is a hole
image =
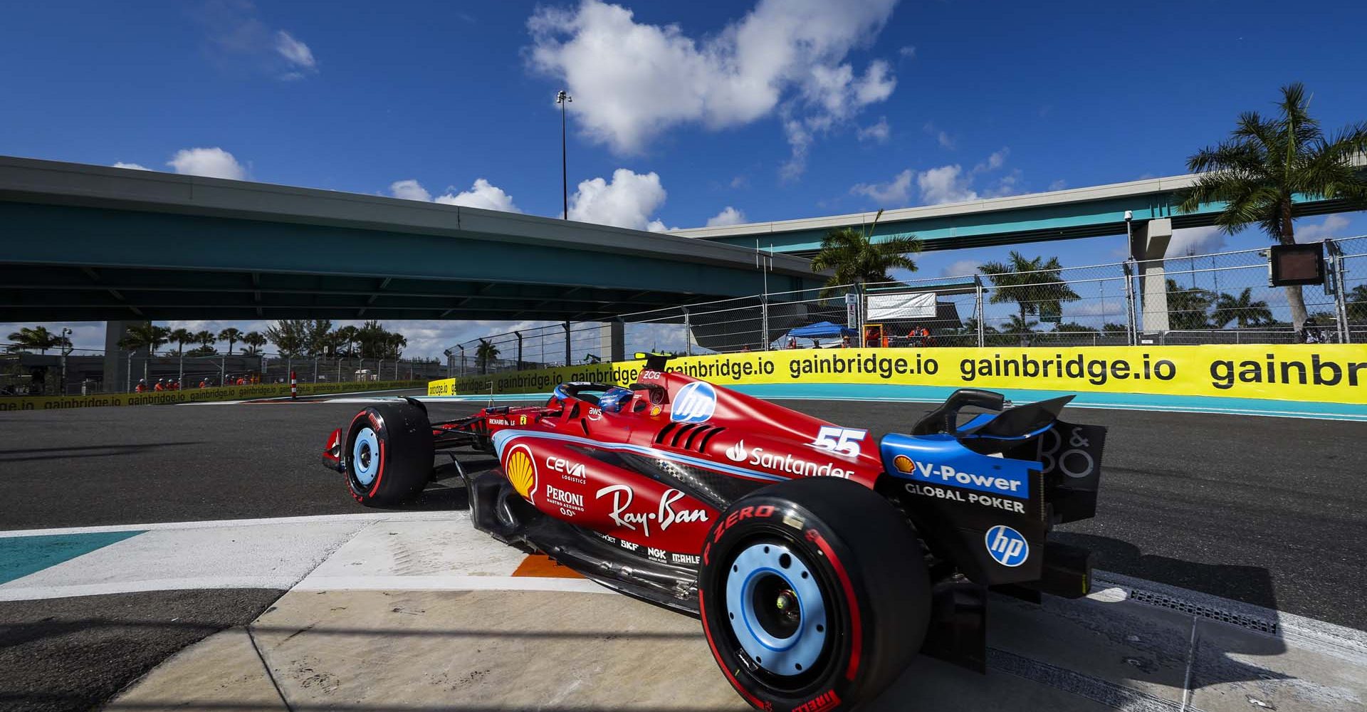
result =
[[[797,603],[796,627],[782,637],[766,627],[756,610],[756,592],[775,585],[782,585]],[[801,675],[822,656],[830,631],[826,608],[816,575],[782,544],[746,547],[726,573],[726,612],[731,634],[755,664],[775,675]]]

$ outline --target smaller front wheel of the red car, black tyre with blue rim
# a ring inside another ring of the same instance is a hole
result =
[[[346,437],[346,484],[366,507],[411,499],[432,476],[432,426],[411,403],[370,406],[351,418]]]

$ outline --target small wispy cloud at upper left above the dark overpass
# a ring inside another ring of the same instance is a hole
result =
[[[309,45],[282,29],[272,29],[247,0],[206,0],[195,12],[208,34],[209,57],[226,71],[250,71],[282,81],[319,71]]]

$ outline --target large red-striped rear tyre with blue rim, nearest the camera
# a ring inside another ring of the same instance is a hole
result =
[[[925,638],[930,581],[906,518],[834,477],[745,496],[708,533],[703,631],[759,709],[831,712],[878,697]]]

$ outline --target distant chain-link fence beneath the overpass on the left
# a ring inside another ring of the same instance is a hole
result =
[[[290,383],[355,383],[443,379],[437,359],[286,357],[280,354],[189,355],[146,350],[25,348],[0,343],[0,395],[90,395],[139,388],[209,388]]]

